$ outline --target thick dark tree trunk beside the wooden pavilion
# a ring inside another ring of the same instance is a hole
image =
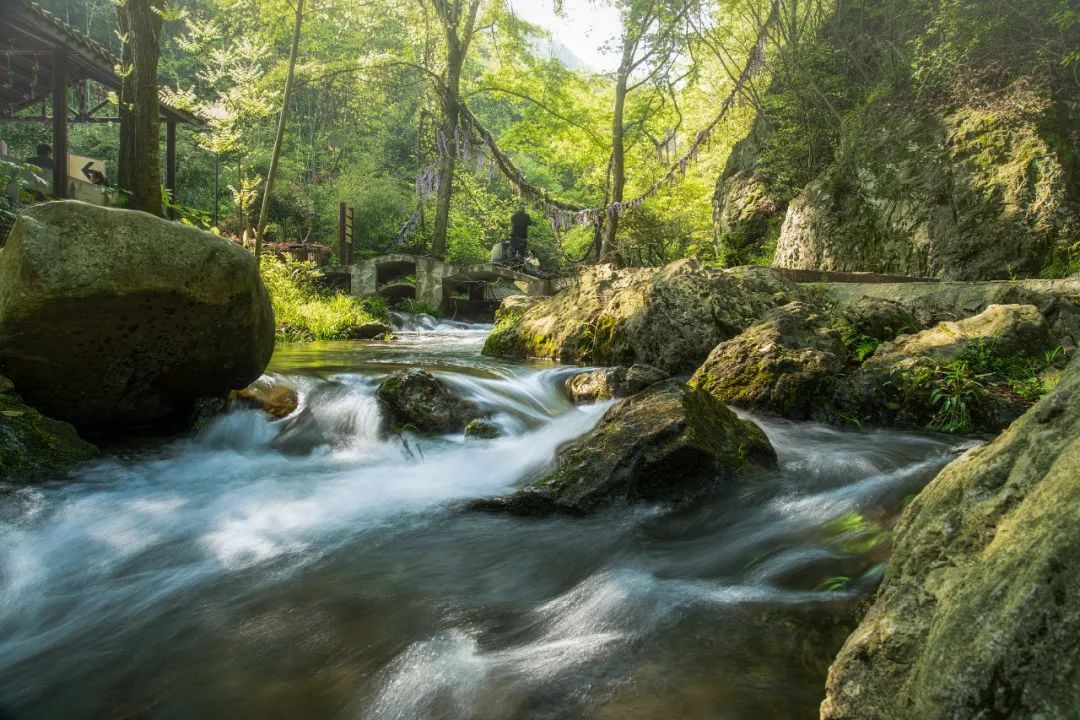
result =
[[[131,193],[129,207],[153,215],[162,214],[158,56],[163,9],[163,0],[125,0],[117,6],[125,72],[118,181]]]

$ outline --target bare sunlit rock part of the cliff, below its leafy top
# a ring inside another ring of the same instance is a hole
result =
[[[1002,107],[995,107],[1000,103]],[[788,205],[773,264],[920,277],[1039,275],[1078,214],[1045,95],[1003,93],[948,112],[867,107],[836,160]]]

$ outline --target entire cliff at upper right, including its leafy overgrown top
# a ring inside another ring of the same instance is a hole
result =
[[[1080,85],[1051,57],[1080,27],[1050,0],[948,4],[845,3],[799,69],[777,73],[717,184],[729,262],[957,280],[1080,269]]]

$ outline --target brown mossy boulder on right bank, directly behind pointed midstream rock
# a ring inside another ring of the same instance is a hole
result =
[[[809,305],[792,302],[721,342],[690,379],[718,400],[806,420],[843,370],[840,337]]]

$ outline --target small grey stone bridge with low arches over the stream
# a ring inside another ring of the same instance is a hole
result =
[[[507,286],[514,289],[508,293]],[[455,266],[418,255],[383,255],[352,266],[353,295],[381,295],[391,302],[411,298],[448,314],[515,293],[552,295],[552,282],[490,262]]]

